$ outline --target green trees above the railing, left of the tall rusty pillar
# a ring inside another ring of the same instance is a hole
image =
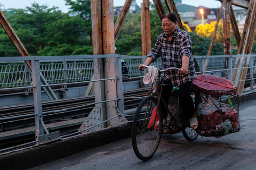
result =
[[[25,10],[9,9],[4,14],[31,56],[92,54],[91,31],[87,31],[91,30],[91,18],[88,26],[85,17],[69,16],[57,9],[32,3]],[[19,56],[2,28],[0,41],[0,56]]]

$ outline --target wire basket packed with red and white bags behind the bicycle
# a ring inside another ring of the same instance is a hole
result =
[[[240,130],[239,109],[235,90],[203,91],[195,90],[197,132],[205,137],[222,137],[238,132]]]

